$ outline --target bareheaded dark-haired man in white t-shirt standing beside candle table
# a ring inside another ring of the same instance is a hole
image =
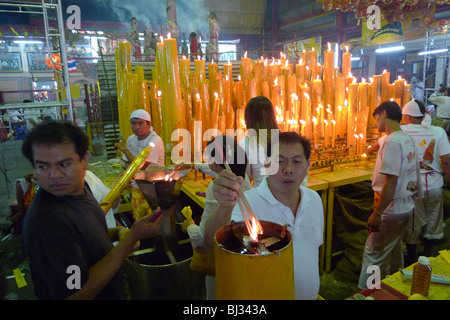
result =
[[[400,128],[402,110],[394,101],[380,104],[373,116],[379,132],[386,132],[372,176],[374,210],[367,223],[367,238],[358,287],[375,285],[373,266],[381,278],[403,267],[402,235],[414,209],[414,199],[421,191],[418,158],[411,137]]]

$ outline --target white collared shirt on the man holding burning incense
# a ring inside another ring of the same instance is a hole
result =
[[[319,247],[323,243],[324,213],[317,192],[300,186],[301,201],[294,217],[289,207],[275,199],[267,184],[268,177],[254,189],[245,192],[259,220],[288,225],[294,251],[295,299],[317,300],[320,287]],[[231,219],[242,221],[239,206]]]

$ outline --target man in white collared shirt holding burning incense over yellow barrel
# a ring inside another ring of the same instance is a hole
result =
[[[295,298],[316,300],[324,213],[320,196],[301,186],[309,169],[311,145],[295,132],[282,132],[278,145],[272,145],[271,150],[269,160],[278,162],[278,171],[265,177],[257,188],[246,191],[245,196],[258,219],[288,225],[293,237]],[[219,206],[205,226],[204,244],[210,251],[214,249],[214,234],[220,227],[231,220],[243,220],[236,206],[242,181],[241,177],[223,170],[213,182]]]

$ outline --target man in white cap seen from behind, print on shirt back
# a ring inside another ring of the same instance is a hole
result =
[[[417,260],[416,247],[420,244],[422,228],[425,227],[425,256],[431,255],[433,241],[444,237],[442,169],[447,179],[450,179],[450,144],[444,129],[431,125],[431,118],[426,113],[423,102],[411,100],[403,107],[402,113],[406,125],[401,128],[416,144],[424,186],[424,198],[416,199],[415,210],[404,238],[408,262],[413,263]]]

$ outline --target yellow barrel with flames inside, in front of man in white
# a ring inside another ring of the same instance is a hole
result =
[[[275,236],[282,226],[260,221],[264,235]],[[244,222],[236,223],[248,234]],[[267,255],[240,254],[223,246],[232,236],[231,226],[219,229],[215,236],[215,269],[217,300],[294,300],[294,264],[292,236],[280,250]]]

